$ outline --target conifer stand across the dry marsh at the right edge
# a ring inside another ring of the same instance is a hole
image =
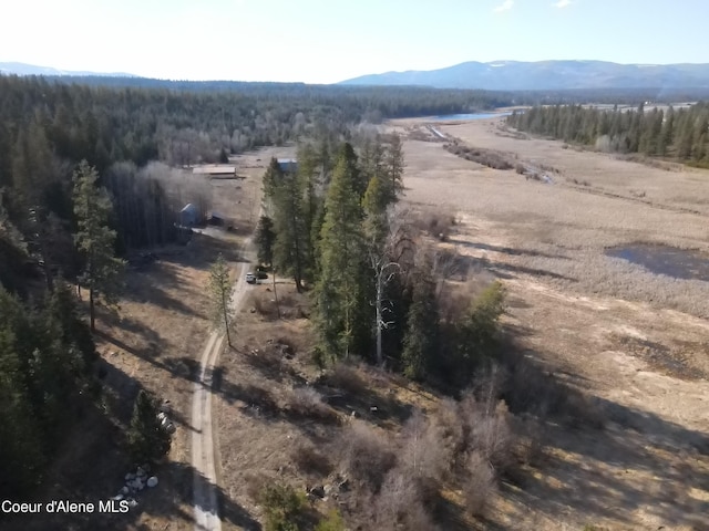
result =
[[[507,124],[537,135],[595,149],[641,154],[709,167],[709,103],[689,107],[620,111],[580,105],[535,106]]]

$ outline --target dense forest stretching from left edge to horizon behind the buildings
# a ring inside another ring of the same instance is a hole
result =
[[[71,177],[81,160],[111,195],[110,225],[124,254],[175,241],[187,202],[209,208],[207,184],[191,178],[194,164],[301,137],[333,142],[362,121],[510,102],[500,93],[422,87],[0,75],[0,216],[9,227],[0,283],[22,291],[28,260],[75,278]]]

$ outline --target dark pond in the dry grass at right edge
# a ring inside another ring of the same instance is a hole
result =
[[[651,273],[709,282],[709,254],[669,246],[633,243],[606,249],[606,256],[641,266]]]

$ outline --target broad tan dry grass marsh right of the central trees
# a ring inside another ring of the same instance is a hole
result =
[[[415,121],[391,125],[422,137]],[[409,139],[405,200],[458,220],[444,246],[504,282],[514,342],[605,417],[603,430],[547,426],[546,462],[502,489],[487,529],[709,529],[709,282],[604,252],[707,252],[709,173],[577,152],[492,119],[436,128],[549,168],[544,184]]]

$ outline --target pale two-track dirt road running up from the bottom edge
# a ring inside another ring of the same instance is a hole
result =
[[[250,248],[250,241],[244,244]],[[248,257],[248,254],[247,254]],[[240,263],[237,281],[234,285],[232,308],[234,314],[244,302],[248,292],[245,281],[248,262]],[[216,434],[212,421],[212,375],[224,348],[225,335],[212,332],[202,352],[199,374],[194,384],[192,400],[192,466],[194,468],[194,512],[195,530],[220,531],[222,520],[218,511],[217,477],[214,457]]]

